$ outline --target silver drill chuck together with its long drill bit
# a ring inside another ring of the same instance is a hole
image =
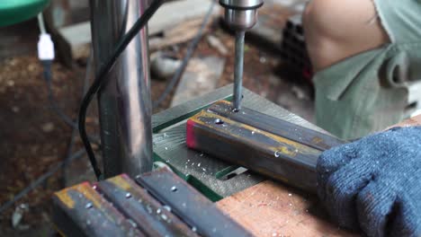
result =
[[[257,9],[263,0],[219,0],[225,8],[225,22],[228,27],[236,31],[236,57],[234,68],[234,110],[241,109],[243,66],[244,66],[244,38],[246,31],[257,22]]]

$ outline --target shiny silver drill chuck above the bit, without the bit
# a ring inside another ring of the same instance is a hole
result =
[[[225,22],[235,31],[247,31],[257,22],[257,9],[263,0],[219,0],[225,8]]]

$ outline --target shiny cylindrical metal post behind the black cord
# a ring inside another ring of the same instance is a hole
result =
[[[130,30],[148,0],[90,0],[96,73]],[[105,178],[121,172],[134,178],[152,169],[148,29],[139,32],[98,93]]]

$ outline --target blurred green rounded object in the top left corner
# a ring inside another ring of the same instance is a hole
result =
[[[0,0],[0,27],[31,19],[47,4],[49,0]]]

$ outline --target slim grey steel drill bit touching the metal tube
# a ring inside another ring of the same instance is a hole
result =
[[[234,110],[241,109],[243,99],[244,38],[246,31],[236,32],[236,57],[234,68]]]

